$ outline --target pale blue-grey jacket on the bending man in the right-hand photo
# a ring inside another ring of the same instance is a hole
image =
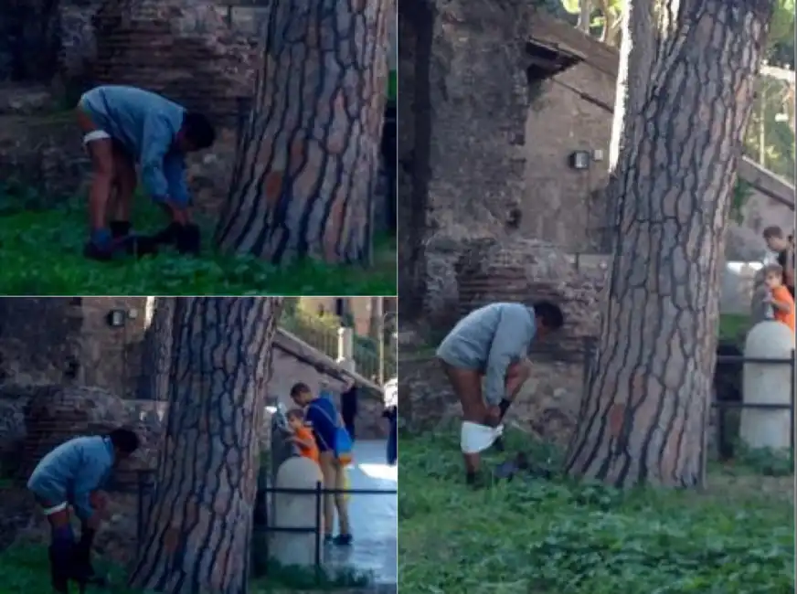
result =
[[[451,366],[483,372],[484,399],[497,405],[505,398],[507,368],[526,356],[535,332],[534,308],[491,303],[462,318],[437,355]]]

